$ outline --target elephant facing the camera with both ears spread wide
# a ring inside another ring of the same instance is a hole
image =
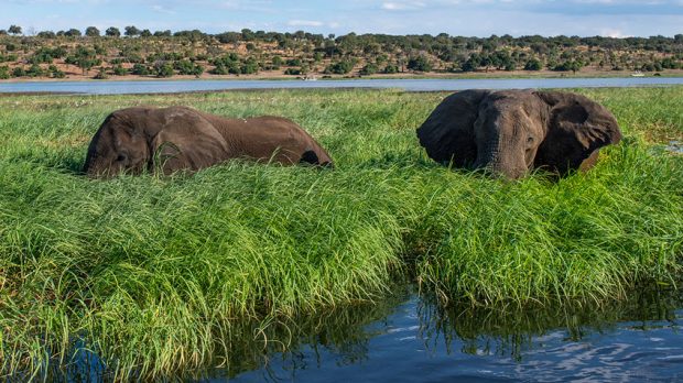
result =
[[[418,136],[436,162],[519,178],[530,168],[586,171],[621,132],[609,110],[582,95],[464,90],[446,97]]]

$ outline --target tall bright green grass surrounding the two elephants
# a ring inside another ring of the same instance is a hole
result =
[[[658,144],[683,136],[683,87],[579,91],[615,111],[626,139],[557,183],[430,161],[414,129],[445,94],[0,98],[0,370],[39,376],[75,346],[115,379],[230,363],[245,319],[378,302],[405,273],[442,304],[483,307],[599,305],[672,284],[683,158]],[[285,116],[336,167],[83,177],[99,123],[133,105]]]

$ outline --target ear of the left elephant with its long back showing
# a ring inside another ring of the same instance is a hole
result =
[[[166,108],[163,125],[151,140],[152,164],[165,174],[196,171],[229,157],[229,146],[216,128],[188,108]]]

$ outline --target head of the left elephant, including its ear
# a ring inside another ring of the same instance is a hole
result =
[[[192,109],[128,108],[105,119],[88,146],[84,172],[139,174],[154,165],[164,173],[198,169],[226,158],[228,151],[223,135]]]

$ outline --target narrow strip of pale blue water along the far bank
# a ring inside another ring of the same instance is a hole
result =
[[[226,89],[401,88],[408,91],[474,88],[595,88],[683,85],[683,77],[519,78],[519,79],[355,79],[355,80],[147,80],[3,83],[0,92],[128,95]]]

